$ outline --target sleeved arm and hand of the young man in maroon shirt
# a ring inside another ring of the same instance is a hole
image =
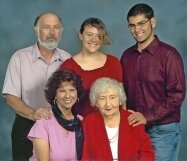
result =
[[[135,123],[135,126],[154,123],[170,116],[172,113],[180,113],[186,88],[184,66],[179,53],[175,49],[169,52],[172,53],[169,53],[165,60],[165,72],[163,73],[163,82],[161,84],[163,88],[159,90],[161,96],[154,100],[155,103],[152,105],[152,110],[147,111],[144,116],[139,112],[133,112],[129,121],[131,124]]]

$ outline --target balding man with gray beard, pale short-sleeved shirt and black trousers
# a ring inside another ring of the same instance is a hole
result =
[[[71,55],[58,49],[62,33],[60,17],[53,13],[38,16],[34,23],[37,43],[17,51],[11,58],[4,81],[3,95],[16,112],[12,129],[14,161],[26,161],[32,155],[27,139],[34,121],[48,119],[50,112],[44,95],[50,75]]]

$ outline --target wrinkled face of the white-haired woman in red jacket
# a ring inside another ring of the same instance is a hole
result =
[[[114,116],[119,113],[119,96],[115,89],[109,88],[98,94],[96,106],[103,117]]]

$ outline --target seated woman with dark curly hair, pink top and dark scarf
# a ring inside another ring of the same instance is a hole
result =
[[[82,89],[80,77],[71,70],[58,70],[49,78],[45,94],[52,115],[48,120],[37,120],[28,134],[34,147],[30,161],[81,159],[82,117],[72,110],[79,102]]]

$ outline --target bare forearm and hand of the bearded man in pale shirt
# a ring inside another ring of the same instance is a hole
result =
[[[38,108],[34,110],[26,103],[24,103],[20,98],[10,94],[6,94],[6,99],[7,104],[22,117],[35,121],[41,118],[48,119],[51,116],[49,108]]]

